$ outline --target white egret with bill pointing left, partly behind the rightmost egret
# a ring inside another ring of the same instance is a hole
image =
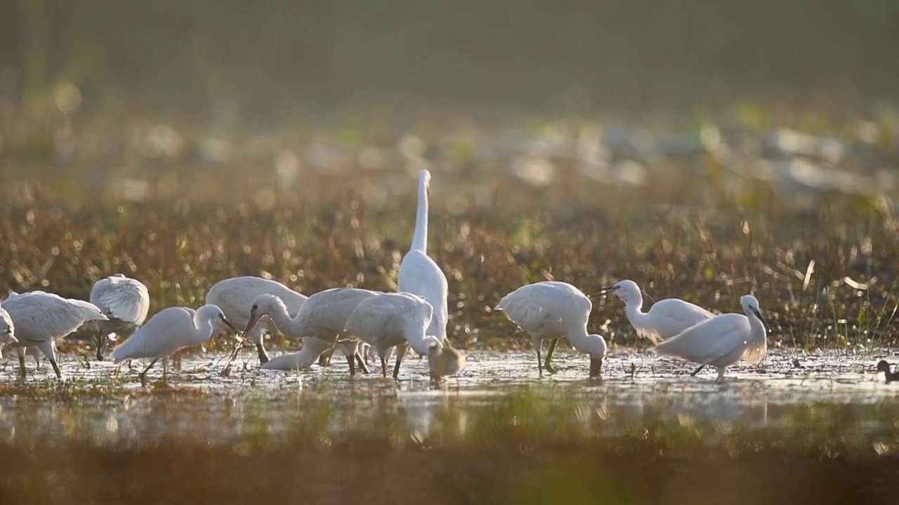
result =
[[[621,298],[624,301],[625,314],[628,315],[628,321],[636,330],[636,334],[653,343],[668,340],[690,326],[715,317],[701,306],[678,298],[659,300],[649,307],[649,312],[643,312],[643,295],[633,280],[622,280],[614,286],[601,288],[599,293],[614,293]],[[699,368],[690,375],[695,376],[704,367],[705,365],[699,365]]]

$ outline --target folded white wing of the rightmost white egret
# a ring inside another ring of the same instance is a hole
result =
[[[749,320],[745,315],[717,315],[657,344],[655,351],[660,355],[708,363],[726,356],[735,347],[742,345],[748,329]]]

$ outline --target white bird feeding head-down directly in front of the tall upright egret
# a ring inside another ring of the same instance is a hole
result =
[[[431,304],[411,293],[384,293],[369,297],[360,301],[356,310],[352,311],[338,341],[349,340],[348,335],[352,335],[375,348],[384,378],[387,378],[387,350],[396,347],[393,374],[396,378],[409,346],[425,356],[431,353],[432,345],[441,346],[436,337],[426,334],[432,315]]]

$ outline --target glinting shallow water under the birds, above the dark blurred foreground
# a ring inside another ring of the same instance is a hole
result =
[[[754,430],[849,415],[843,429],[863,435],[882,429],[899,407],[899,386],[885,385],[874,371],[882,357],[771,350],[761,366],[734,366],[716,384],[714,369],[690,377],[693,365],[648,351],[613,351],[602,380],[589,380],[582,355],[556,353],[559,372],[539,377],[530,351],[473,350],[458,381],[432,385],[426,361],[413,354],[399,380],[383,381],[378,367],[350,378],[338,356],[326,368],[258,370],[247,352],[230,377],[219,377],[223,356],[198,355],[182,359],[181,370],[170,369],[165,381],[161,368],[151,371],[147,387],[139,383],[137,361],[129,369],[63,355],[60,385],[49,367],[35,369],[31,359],[21,382],[17,363],[7,359],[0,363],[0,439],[272,442],[298,430],[332,439],[360,430],[463,437],[491,416],[511,416],[511,426],[538,431],[583,426],[614,436],[646,422],[712,421]]]

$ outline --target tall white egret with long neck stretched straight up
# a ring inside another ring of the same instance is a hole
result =
[[[396,288],[402,293],[412,293],[434,307],[427,334],[437,337],[443,345],[447,341],[447,277],[441,267],[428,256],[428,197],[431,195],[431,173],[418,173],[418,211],[415,215],[415,232],[412,247],[400,261],[396,276]],[[417,351],[416,351],[417,352]]]

